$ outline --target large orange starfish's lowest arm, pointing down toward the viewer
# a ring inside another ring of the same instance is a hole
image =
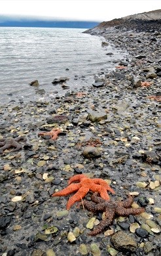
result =
[[[73,184],[71,184],[73,186]],[[79,185],[79,184],[77,184]],[[69,185],[70,186],[70,185]],[[70,207],[75,203],[78,202],[80,200],[82,200],[82,198],[84,198],[84,196],[86,196],[86,194],[88,193],[89,188],[88,187],[81,187],[79,189],[79,191],[77,191],[76,194],[74,194],[73,196],[71,196],[71,198],[69,198],[68,202],[67,202],[67,210],[70,209]]]

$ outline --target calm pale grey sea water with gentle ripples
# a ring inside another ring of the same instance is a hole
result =
[[[0,103],[52,97],[56,91],[64,94],[61,85],[52,85],[61,76],[69,77],[69,90],[79,91],[92,85],[94,74],[111,70],[115,60],[123,58],[124,53],[101,47],[101,38],[82,33],[84,30],[0,28]],[[35,79],[39,89],[29,85]],[[40,89],[45,90],[44,95]]]

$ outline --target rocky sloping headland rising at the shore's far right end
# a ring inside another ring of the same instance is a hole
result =
[[[91,30],[87,30],[85,33],[97,34],[100,32],[112,32],[113,30],[120,30],[123,32],[130,30],[135,32],[152,32],[157,30],[160,32],[161,9],[101,22],[98,26]]]

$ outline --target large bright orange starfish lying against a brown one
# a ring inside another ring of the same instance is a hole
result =
[[[75,181],[79,181],[79,183],[71,184]],[[90,179],[84,174],[78,174],[71,177],[68,184],[69,186],[67,186],[67,188],[52,194],[52,196],[67,196],[77,191],[76,194],[69,198],[67,202],[67,210],[69,210],[75,202],[82,200],[90,190],[92,192],[99,192],[101,198],[105,200],[109,200],[109,195],[107,194],[108,190],[115,194],[113,188],[111,188],[107,182],[103,181],[103,179]]]

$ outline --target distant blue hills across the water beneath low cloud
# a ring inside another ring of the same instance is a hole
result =
[[[99,22],[64,21],[64,20],[26,20],[0,16],[0,27],[35,27],[35,28],[93,28]]]

